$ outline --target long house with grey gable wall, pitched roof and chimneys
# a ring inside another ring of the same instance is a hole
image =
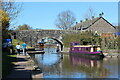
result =
[[[93,31],[98,32],[98,34],[102,33],[115,33],[117,30],[115,26],[109,23],[106,19],[99,15],[99,17],[94,18],[92,16],[92,20],[80,21],[77,22],[75,26],[73,26],[70,30],[81,30],[81,31]]]

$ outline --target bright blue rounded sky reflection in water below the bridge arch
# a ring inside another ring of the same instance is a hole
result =
[[[45,48],[44,50],[44,54],[35,55],[35,58],[40,64],[42,64],[42,66],[51,66],[59,62],[59,54],[56,53],[54,48]]]

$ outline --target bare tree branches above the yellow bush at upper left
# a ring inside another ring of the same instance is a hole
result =
[[[22,2],[15,2],[15,0],[2,0],[0,1],[0,5],[2,6],[2,10],[8,14],[10,24],[18,17],[18,14],[22,10]]]

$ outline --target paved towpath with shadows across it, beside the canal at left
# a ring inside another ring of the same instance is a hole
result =
[[[34,61],[30,59],[29,54],[23,56],[22,53],[17,55],[17,61],[14,62],[14,68],[6,79],[27,79],[43,78],[43,73],[34,70]]]

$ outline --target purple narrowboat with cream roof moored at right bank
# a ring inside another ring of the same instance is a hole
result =
[[[70,55],[80,55],[91,59],[104,58],[99,45],[80,45],[79,42],[71,42],[69,52]]]

